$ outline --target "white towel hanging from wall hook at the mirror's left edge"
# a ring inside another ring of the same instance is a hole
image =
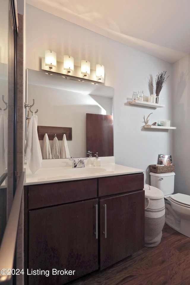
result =
[[[34,174],[42,165],[42,153],[37,132],[38,117],[34,115],[30,119],[25,145],[25,156],[29,163],[29,168]]]

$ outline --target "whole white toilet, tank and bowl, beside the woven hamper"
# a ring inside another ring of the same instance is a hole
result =
[[[153,173],[151,186],[164,193],[165,223],[190,238],[190,196],[186,194],[173,194],[174,172]]]

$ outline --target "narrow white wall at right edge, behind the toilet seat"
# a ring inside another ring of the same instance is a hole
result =
[[[175,193],[190,194],[190,55],[172,66],[173,133],[175,153]]]

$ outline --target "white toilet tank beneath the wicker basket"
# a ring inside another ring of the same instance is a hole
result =
[[[175,172],[153,173],[151,175],[151,186],[160,189],[164,196],[174,192],[174,177]]]

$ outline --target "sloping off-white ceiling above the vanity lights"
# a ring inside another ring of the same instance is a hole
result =
[[[26,3],[170,63],[190,53],[189,0]]]

